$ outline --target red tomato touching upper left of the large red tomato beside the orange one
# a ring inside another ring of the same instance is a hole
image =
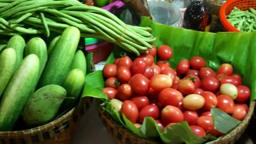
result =
[[[131,72],[127,67],[118,67],[117,80],[121,83],[128,83],[131,79]]]

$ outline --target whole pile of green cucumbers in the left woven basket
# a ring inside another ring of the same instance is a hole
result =
[[[12,131],[20,117],[26,128],[43,125],[75,106],[86,75],[79,40],[79,29],[67,27],[48,48],[40,37],[25,43],[14,35],[0,49],[0,131]]]

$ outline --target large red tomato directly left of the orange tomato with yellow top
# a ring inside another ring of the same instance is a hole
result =
[[[138,95],[146,95],[149,91],[149,80],[141,74],[131,77],[130,85],[133,91]]]

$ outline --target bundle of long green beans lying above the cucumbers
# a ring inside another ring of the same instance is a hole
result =
[[[109,11],[77,0],[0,0],[0,35],[49,36],[69,26],[80,29],[83,37],[116,43],[137,56],[156,40],[149,27],[127,25]]]

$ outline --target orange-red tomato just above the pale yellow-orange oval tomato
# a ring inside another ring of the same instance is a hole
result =
[[[191,80],[182,79],[179,81],[178,90],[184,95],[189,95],[195,91],[195,84]]]

